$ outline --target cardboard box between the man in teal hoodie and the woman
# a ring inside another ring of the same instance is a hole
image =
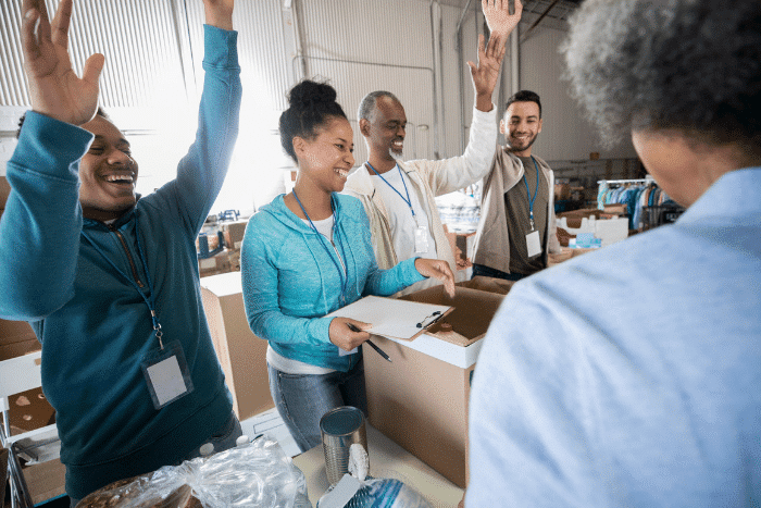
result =
[[[239,420],[274,408],[266,370],[266,340],[248,325],[240,273],[201,280],[201,298],[216,356]]]

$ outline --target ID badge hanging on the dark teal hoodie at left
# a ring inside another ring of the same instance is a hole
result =
[[[153,407],[161,409],[192,392],[192,380],[179,340],[146,355],[140,363]]]

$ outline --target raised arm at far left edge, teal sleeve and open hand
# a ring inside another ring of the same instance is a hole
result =
[[[37,320],[74,295],[82,210],[78,162],[92,135],[78,127],[98,104],[103,55],[93,54],[82,78],[72,70],[72,0],[52,24],[43,0],[22,8],[24,71],[33,111],[8,162],[11,193],[0,221],[0,317]]]

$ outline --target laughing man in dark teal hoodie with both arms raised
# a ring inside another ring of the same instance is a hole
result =
[[[72,72],[72,0],[52,26],[42,0],[24,1],[32,111],[7,170],[0,317],[28,321],[42,344],[42,388],[73,499],[240,433],[195,249],[237,137],[240,69],[234,0],[203,3],[196,140],[176,179],[140,198],[129,143],[93,119],[103,55],[88,59],[82,79]]]

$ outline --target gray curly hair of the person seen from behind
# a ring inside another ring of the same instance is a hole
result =
[[[761,159],[761,1],[587,0],[570,25],[565,78],[608,145],[676,131]]]

